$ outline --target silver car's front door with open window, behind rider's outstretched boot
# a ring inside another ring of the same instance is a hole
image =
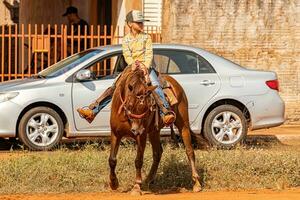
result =
[[[110,87],[116,75],[112,74],[121,53],[96,61],[85,69],[89,69],[93,78],[87,81],[74,81],[72,88],[72,101],[74,111],[74,121],[76,129],[79,131],[106,131],[110,130],[110,106],[109,103],[96,116],[90,124],[81,118],[76,111],[78,108],[87,107],[93,103],[108,87]]]

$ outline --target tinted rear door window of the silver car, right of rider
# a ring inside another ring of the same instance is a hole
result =
[[[157,71],[165,74],[197,74],[198,56],[189,51],[154,51],[153,65]]]

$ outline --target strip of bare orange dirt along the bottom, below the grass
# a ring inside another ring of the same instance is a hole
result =
[[[128,193],[70,193],[70,194],[33,194],[33,195],[2,195],[1,200],[298,200],[300,199],[300,188],[284,191],[252,190],[252,191],[218,191],[200,193],[174,193],[174,194],[143,194],[142,196],[131,196]]]

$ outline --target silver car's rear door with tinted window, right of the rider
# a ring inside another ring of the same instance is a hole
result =
[[[159,72],[171,75],[183,87],[192,123],[220,88],[216,71],[203,57],[187,50],[156,50],[153,61]]]

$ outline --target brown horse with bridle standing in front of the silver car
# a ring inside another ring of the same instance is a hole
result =
[[[167,75],[164,76],[164,79],[173,86],[174,93],[178,98],[178,104],[172,107],[176,113],[176,121],[174,124],[181,133],[192,169],[192,178],[195,182],[193,191],[198,192],[201,190],[201,185],[195,167],[195,154],[191,144],[187,97],[175,79]],[[160,129],[163,128],[162,120],[159,120],[158,127],[154,125],[157,124],[155,123],[155,115],[157,115],[157,113],[154,109],[156,105],[151,93],[155,88],[154,86],[147,86],[141,70],[131,71],[130,67],[124,70],[123,75],[116,84],[112,99],[110,119],[112,132],[109,166],[110,187],[113,190],[117,189],[119,185],[115,168],[118,148],[123,137],[134,138],[137,143],[137,156],[135,159],[136,179],[132,193],[141,193],[141,168],[143,165],[147,135],[152,145],[153,163],[146,178],[146,183],[151,183],[155,178],[163,152],[160,143]]]

